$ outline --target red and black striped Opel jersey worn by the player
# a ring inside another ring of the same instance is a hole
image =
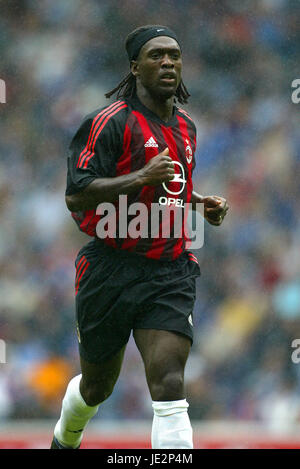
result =
[[[88,115],[70,144],[66,195],[82,191],[98,178],[117,177],[143,168],[147,162],[166,147],[174,161],[175,177],[159,186],[144,186],[128,195],[128,206],[135,202],[149,208],[153,204],[183,205],[191,201],[192,172],[195,167],[196,127],[186,111],[174,106],[168,122],[161,120],[135,96],[114,102]],[[120,216],[118,201],[115,202]],[[176,211],[171,218],[176,217]],[[96,209],[72,213],[81,231],[97,237],[100,215]],[[128,222],[130,217],[128,218]],[[163,220],[161,221],[163,224]],[[184,223],[184,217],[182,220]],[[105,243],[117,249],[142,254],[153,259],[174,260],[184,250],[186,235],[169,237],[158,234],[151,237],[131,238],[130,235],[107,236]]]

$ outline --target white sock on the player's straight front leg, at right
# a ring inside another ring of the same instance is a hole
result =
[[[152,448],[193,448],[193,430],[186,399],[153,401]]]

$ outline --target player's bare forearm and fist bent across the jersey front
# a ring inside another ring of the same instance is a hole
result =
[[[156,186],[171,181],[174,177],[174,164],[168,155],[169,149],[166,148],[138,171],[95,179],[82,191],[66,195],[68,209],[71,212],[91,210],[102,202],[114,202],[119,195],[137,192],[144,186]]]

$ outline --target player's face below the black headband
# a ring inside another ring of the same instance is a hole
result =
[[[181,50],[175,39],[159,36],[140,50],[131,71],[147,91],[154,96],[174,96],[181,81]]]

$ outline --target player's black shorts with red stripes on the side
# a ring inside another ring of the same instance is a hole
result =
[[[133,329],[174,331],[193,342],[200,268],[188,251],[175,261],[158,261],[93,240],[75,266],[79,352],[86,361],[111,358]]]

